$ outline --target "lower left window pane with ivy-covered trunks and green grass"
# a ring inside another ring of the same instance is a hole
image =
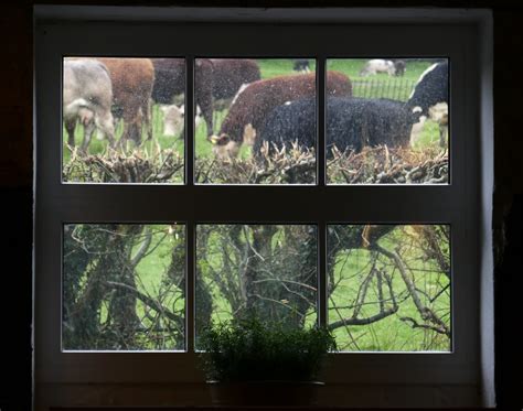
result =
[[[183,225],[71,224],[63,240],[64,350],[180,350]]]

